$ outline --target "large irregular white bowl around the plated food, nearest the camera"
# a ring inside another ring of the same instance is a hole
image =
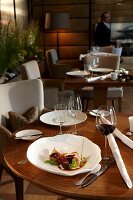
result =
[[[83,151],[82,144],[84,144]],[[45,163],[45,161],[49,159],[54,148],[60,153],[77,152],[79,155],[82,153],[82,156],[86,158],[87,162],[83,167],[77,170],[61,170],[58,166]],[[53,174],[73,176],[94,169],[101,161],[101,150],[98,145],[83,136],[63,134],[36,140],[29,146],[27,158],[39,169]]]

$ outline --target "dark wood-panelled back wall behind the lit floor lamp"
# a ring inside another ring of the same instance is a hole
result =
[[[78,58],[80,53],[87,52],[90,45],[94,45],[95,24],[100,21],[103,11],[110,11],[111,21],[133,22],[133,0],[124,0],[124,4],[118,6],[117,0],[32,0],[31,16],[33,19],[42,20],[46,12],[68,12],[70,16],[71,29],[59,33],[59,53],[62,59]],[[91,15],[91,29],[89,17]],[[44,28],[44,27],[43,27]],[[57,34],[44,32],[44,49],[56,48]]]

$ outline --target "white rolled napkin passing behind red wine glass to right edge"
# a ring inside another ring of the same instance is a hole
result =
[[[103,116],[101,116],[101,119],[105,124],[110,124],[110,122],[107,119],[105,119]],[[126,135],[121,133],[117,128],[115,128],[113,135],[118,137],[124,144],[126,144],[128,147],[133,149],[133,141],[130,138],[128,138]]]

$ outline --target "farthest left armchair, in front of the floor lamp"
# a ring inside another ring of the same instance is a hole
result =
[[[51,78],[64,79],[66,72],[71,71],[73,66],[67,63],[60,63],[55,49],[46,51],[46,63]]]

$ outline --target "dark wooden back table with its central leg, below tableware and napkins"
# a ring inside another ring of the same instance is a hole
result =
[[[111,78],[88,82],[84,77],[67,76],[64,80],[65,89],[73,89],[80,93],[80,89],[85,86],[93,86],[94,107],[97,109],[100,105],[107,104],[108,87],[133,87],[133,80],[122,82],[121,80],[113,81]]]

